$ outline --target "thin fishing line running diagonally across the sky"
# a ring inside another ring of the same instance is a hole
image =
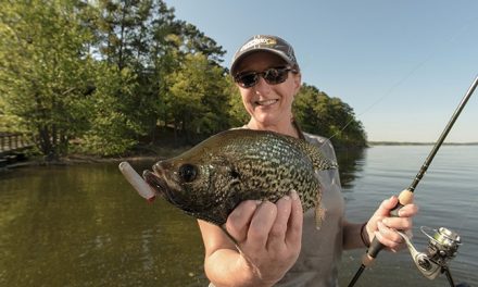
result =
[[[455,30],[454,34],[452,34],[452,36],[450,36],[448,38],[448,40],[445,40],[445,43],[452,43],[453,41],[455,41],[456,38],[458,38],[458,36],[461,36],[462,34],[464,34],[466,30],[468,30],[471,22],[474,22],[475,20],[478,20],[478,17],[471,18],[469,20],[466,24],[464,24],[463,26],[461,26],[460,28],[457,28]],[[383,96],[379,97],[377,100],[375,100],[374,102],[372,102],[370,105],[368,105],[367,108],[365,108],[365,110],[363,110],[362,112],[356,114],[356,117],[360,117],[362,115],[364,115],[365,113],[367,113],[368,111],[370,111],[375,105],[377,105],[379,102],[381,102],[382,100],[387,99],[390,97],[390,95],[392,95],[393,91],[395,91],[395,89],[398,89],[406,79],[408,79],[413,74],[415,74],[416,71],[418,71],[422,66],[424,66],[427,62],[429,62],[431,59],[436,58],[436,55],[438,54],[439,49],[435,49],[432,50],[431,53],[429,53],[424,61],[419,62],[418,64],[416,64],[407,74],[405,74],[405,76],[403,76],[400,80],[398,80],[394,85],[392,85],[385,93]],[[349,122],[345,123],[345,125],[339,129],[338,132],[336,132],[331,137],[328,138],[328,140],[335,138],[336,136],[340,135],[350,124],[352,124],[355,121],[355,117],[352,117],[351,120],[349,120]],[[324,145],[324,144],[323,144]]]

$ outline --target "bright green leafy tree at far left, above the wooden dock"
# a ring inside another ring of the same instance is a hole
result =
[[[43,154],[66,154],[68,140],[86,128],[85,103],[91,36],[76,1],[2,1],[0,92],[3,113],[35,134]]]

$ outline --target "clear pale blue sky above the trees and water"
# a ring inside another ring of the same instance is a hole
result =
[[[435,142],[478,76],[477,0],[165,2],[225,66],[253,35],[286,39],[303,82],[348,103],[370,141]],[[478,141],[475,93],[445,142]]]

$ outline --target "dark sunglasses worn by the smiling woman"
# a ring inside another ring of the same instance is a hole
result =
[[[291,67],[269,67],[264,72],[244,72],[236,75],[234,80],[242,88],[254,87],[259,83],[259,77],[265,79],[269,85],[277,85],[286,82],[289,72],[297,73],[297,70]]]

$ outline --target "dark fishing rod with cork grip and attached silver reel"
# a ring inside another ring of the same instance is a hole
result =
[[[413,202],[413,198],[414,198],[414,191],[415,188],[417,187],[418,183],[422,180],[422,178],[424,177],[425,173],[428,170],[428,166],[430,165],[431,161],[433,160],[435,155],[437,154],[438,150],[440,149],[441,145],[443,144],[444,139],[446,138],[448,134],[450,133],[450,130],[452,129],[453,124],[455,123],[456,118],[458,117],[460,113],[462,112],[463,108],[465,107],[465,104],[468,102],[468,99],[471,97],[473,92],[475,91],[476,87],[478,85],[478,76],[475,78],[475,80],[473,82],[471,86],[468,88],[467,92],[465,93],[465,96],[463,97],[462,101],[460,102],[458,107],[456,108],[455,112],[453,113],[452,117],[450,118],[449,123],[446,124],[445,128],[443,129],[443,132],[441,133],[440,137],[438,138],[437,142],[435,144],[433,148],[431,149],[430,153],[428,154],[427,159],[425,160],[424,164],[422,165],[420,170],[418,171],[417,175],[415,176],[415,179],[413,180],[413,183],[410,185],[408,188],[406,188],[405,190],[403,190],[402,192],[400,192],[399,195],[399,202],[397,203],[397,205],[390,211],[390,215],[393,217],[398,217],[399,216],[399,211],[406,204],[412,203]],[[442,247],[444,245],[440,245],[441,242],[446,242],[449,244],[446,246],[448,249],[454,251],[451,253],[454,254],[456,253],[456,249],[457,246],[460,244],[460,237],[446,229],[441,227],[439,230],[442,232],[436,232],[436,234],[433,235],[435,241],[432,241],[430,239],[430,245],[439,242],[437,248]],[[401,234],[402,237],[404,237],[405,235]],[[426,234],[427,235],[427,234]],[[428,235],[427,235],[428,236]],[[405,236],[406,237],[406,236]],[[408,249],[412,252],[411,246],[412,244],[410,242],[410,240],[407,241],[407,239],[404,237],[405,242],[408,246]],[[435,237],[439,238],[439,239],[443,239],[441,241],[439,241],[438,239],[436,239]],[[445,240],[446,239],[446,240]],[[349,287],[352,287],[355,285],[355,283],[357,282],[357,279],[360,278],[360,276],[362,275],[362,273],[364,272],[365,267],[369,266],[375,258],[377,257],[378,252],[380,252],[383,249],[383,245],[377,239],[377,237],[374,237],[374,239],[372,240],[370,247],[367,249],[366,253],[364,254],[364,257],[362,258],[362,264],[360,266],[360,269],[356,271],[355,275],[353,276],[352,280],[349,284]],[[413,247],[413,246],[412,246]],[[440,251],[442,250],[438,250],[437,252],[440,253]],[[441,252],[443,253],[443,252]],[[448,255],[446,252],[444,252],[443,254]],[[413,254],[412,254],[413,255]],[[452,255],[448,255],[446,259],[452,258]],[[430,263],[430,261],[426,261],[424,260],[424,258],[414,258],[415,263],[417,264],[417,266],[424,265],[424,270],[426,270],[427,272],[429,272],[429,265],[427,265],[427,263]],[[449,278],[450,284],[453,284],[453,279],[451,278],[451,274],[445,265],[446,260],[441,260],[439,263],[437,263],[437,260],[431,261],[431,263],[433,263],[435,265],[432,265],[433,267],[436,267],[436,265],[440,265],[439,272],[445,272],[446,273],[446,277]],[[431,264],[430,263],[430,264]],[[423,269],[419,267],[419,270],[422,271],[422,273],[424,273]],[[433,271],[435,272],[435,271]],[[435,272],[437,273],[437,272]],[[435,275],[433,273],[433,275]],[[425,276],[427,276],[424,273]],[[431,278],[430,276],[427,276],[429,278]],[[433,277],[435,278],[435,277]],[[454,285],[452,285],[454,287]]]

